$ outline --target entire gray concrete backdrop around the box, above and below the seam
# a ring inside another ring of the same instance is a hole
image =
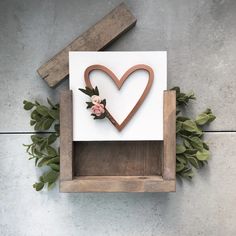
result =
[[[24,99],[58,100],[36,69],[119,0],[0,1],[0,235],[236,235],[236,0],[127,0],[138,22],[108,50],[167,50],[168,87],[211,107],[209,167],[172,194],[36,193]],[[230,131],[230,132],[225,132]],[[12,133],[12,134],[9,134]],[[19,134],[18,134],[19,133]]]

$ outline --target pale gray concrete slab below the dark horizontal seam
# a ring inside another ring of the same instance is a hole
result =
[[[22,143],[0,135],[0,235],[233,236],[236,234],[236,134],[210,133],[212,159],[176,193],[35,192],[39,174]]]

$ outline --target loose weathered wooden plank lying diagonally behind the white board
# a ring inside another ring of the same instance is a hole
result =
[[[50,87],[69,74],[69,51],[99,51],[132,28],[136,18],[124,3],[93,25],[81,36],[38,69],[38,74]]]

